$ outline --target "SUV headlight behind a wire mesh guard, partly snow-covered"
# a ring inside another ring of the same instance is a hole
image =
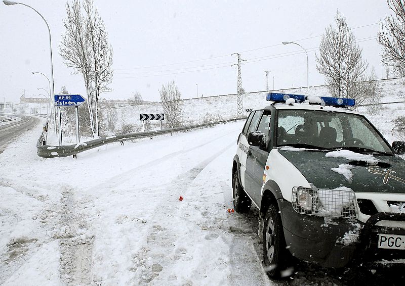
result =
[[[317,216],[357,217],[356,196],[350,188],[318,189],[293,187],[293,209],[297,213]]]

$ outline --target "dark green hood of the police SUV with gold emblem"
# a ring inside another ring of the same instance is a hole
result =
[[[370,164],[364,157],[347,158],[330,156],[319,151],[278,150],[317,188],[335,189],[346,186],[354,192],[376,192],[405,194],[405,161],[394,156],[372,156],[378,165]],[[347,180],[343,174],[336,172],[340,165],[350,164],[352,176]],[[335,170],[332,170],[335,169]],[[288,170],[286,170],[288,173]]]

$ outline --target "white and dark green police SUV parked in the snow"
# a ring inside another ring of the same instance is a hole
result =
[[[405,261],[405,142],[392,146],[352,99],[267,94],[237,140],[233,204],[260,210],[268,274],[292,256],[325,267]]]

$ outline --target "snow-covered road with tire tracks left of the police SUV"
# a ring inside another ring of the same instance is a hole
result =
[[[0,284],[273,284],[255,226],[226,211],[243,123],[77,159],[37,157],[38,125],[0,154]]]

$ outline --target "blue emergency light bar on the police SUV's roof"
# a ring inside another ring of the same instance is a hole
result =
[[[330,106],[354,106],[356,101],[354,99],[342,99],[342,98],[330,98],[330,97],[314,97],[315,99],[320,98],[325,105]],[[269,92],[267,93],[266,100],[273,101],[276,103],[285,103],[288,99],[294,99],[296,103],[303,103],[308,100],[308,103],[312,103],[311,96],[302,96],[300,94],[289,94],[289,93],[279,93],[279,92]],[[316,102],[316,100],[315,100]],[[313,102],[313,103],[315,103]]]

